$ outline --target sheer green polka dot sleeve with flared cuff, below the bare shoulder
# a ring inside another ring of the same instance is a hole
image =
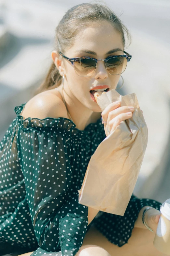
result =
[[[34,127],[20,127],[18,147],[37,242],[47,251],[61,248],[63,255],[64,251],[76,253],[82,243],[76,243],[76,239],[83,241],[86,233],[88,207],[78,203],[78,191],[71,186],[74,126],[63,120],[57,121],[57,127],[50,123],[51,128],[39,128],[38,120],[36,125],[28,121]],[[39,120],[45,126],[42,122]],[[65,233],[70,235],[69,245]]]

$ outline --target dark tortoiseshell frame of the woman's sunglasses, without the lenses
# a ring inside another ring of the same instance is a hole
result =
[[[60,55],[62,55],[66,60],[69,60],[70,62],[71,62],[71,64],[72,65],[74,65],[74,62],[76,61],[76,60],[79,60],[79,59],[91,59],[91,60],[95,60],[95,62],[96,62],[96,68],[97,68],[97,62],[98,61],[105,61],[105,67],[106,67],[106,62],[107,62],[107,60],[109,60],[109,59],[111,59],[111,58],[115,58],[115,57],[125,57],[126,59],[127,59],[127,62],[129,62],[130,60],[131,60],[131,58],[132,58],[132,55],[130,55],[129,53],[127,53],[127,52],[125,52],[125,51],[123,51],[123,53],[125,53],[126,55],[114,55],[114,56],[109,56],[108,58],[106,58],[106,59],[103,59],[103,60],[97,60],[97,59],[95,59],[95,58],[91,58],[91,57],[89,57],[89,56],[83,56],[83,57],[77,57],[77,58],[68,58],[68,57],[66,57],[64,54],[62,54],[61,52],[59,52],[59,54]],[[127,67],[127,65],[126,65],[126,67]],[[94,72],[96,71],[96,68],[95,68],[95,70],[94,70]],[[126,68],[125,68],[126,69]],[[106,70],[107,70],[107,68],[106,68]],[[125,71],[125,70],[124,70]],[[124,72],[123,71],[123,72]],[[94,74],[94,72],[92,73],[92,75]],[[107,72],[108,72],[108,70],[107,70]],[[123,73],[122,72],[122,73]],[[108,72],[109,73],[109,72]],[[121,74],[122,74],[121,73]],[[77,73],[76,73],[77,74]],[[110,74],[110,73],[109,73]],[[78,75],[78,74],[77,74]],[[90,75],[90,76],[92,76],[92,75]],[[110,74],[110,75],[112,75],[112,74]],[[117,75],[120,75],[120,74],[117,74]],[[112,75],[112,76],[117,76],[117,75]],[[79,75],[78,75],[79,76]],[[87,76],[87,77],[90,77],[90,76]],[[80,76],[81,77],[81,76]]]

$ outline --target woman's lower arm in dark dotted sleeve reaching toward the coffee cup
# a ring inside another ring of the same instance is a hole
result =
[[[155,229],[157,228],[157,224],[154,223],[155,221],[158,222],[159,216],[154,220],[155,211],[156,215],[159,214],[158,209],[161,204],[156,200],[138,198],[134,195],[131,196],[123,216],[102,212],[99,217],[95,218],[94,225],[107,237],[109,241],[121,247],[128,243],[134,226],[136,228],[146,228],[142,222],[142,214],[146,206],[155,208],[148,210],[145,216],[149,227],[156,231]],[[112,235],[112,233],[114,233],[114,235]]]

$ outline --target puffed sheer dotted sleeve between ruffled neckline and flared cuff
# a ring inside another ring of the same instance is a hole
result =
[[[57,251],[60,209],[68,199],[72,179],[69,143],[54,129],[50,133],[29,129],[19,130],[18,144],[37,242],[45,250]]]

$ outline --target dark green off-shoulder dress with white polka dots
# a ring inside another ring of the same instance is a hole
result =
[[[128,242],[140,209],[160,202],[132,195],[124,216],[99,212],[88,225],[78,190],[105,139],[101,120],[83,131],[67,118],[26,118],[26,102],[0,142],[0,243],[35,255],[74,256],[91,225],[113,244]],[[114,168],[114,166],[113,166]]]

